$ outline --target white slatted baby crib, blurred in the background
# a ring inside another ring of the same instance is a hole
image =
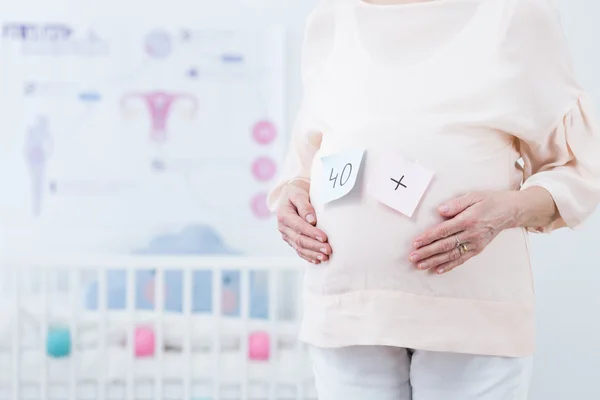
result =
[[[0,400],[316,399],[305,349],[297,341],[300,263],[247,257],[69,256],[0,260]],[[108,309],[108,271],[126,271],[123,310]],[[136,271],[153,270],[155,308],[135,306]],[[239,270],[238,317],[221,310],[222,274]],[[183,274],[182,310],[166,311],[165,273]],[[212,312],[192,310],[192,273],[212,272]],[[266,271],[268,318],[249,317],[251,271]],[[96,276],[98,307],[80,306]],[[292,305],[292,309],[285,305]],[[285,309],[285,310],[284,310]],[[286,311],[286,312],[283,312]],[[136,354],[136,327],[151,327],[151,355]],[[48,334],[68,332],[68,355],[48,354]],[[268,336],[268,356],[250,359],[248,338]]]

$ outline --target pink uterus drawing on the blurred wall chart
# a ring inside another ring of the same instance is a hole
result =
[[[198,109],[198,99],[191,94],[151,91],[124,95],[121,98],[121,110],[127,111],[134,101],[145,105],[150,117],[149,139],[158,146],[162,146],[169,138],[168,122],[175,103],[187,102],[191,106],[190,118]]]

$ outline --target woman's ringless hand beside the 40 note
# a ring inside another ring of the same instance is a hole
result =
[[[296,181],[283,189],[277,222],[283,240],[303,259],[320,264],[329,259],[331,246],[325,232],[315,227],[317,218],[310,204],[309,184]]]

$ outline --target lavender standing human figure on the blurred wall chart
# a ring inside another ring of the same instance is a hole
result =
[[[23,149],[31,179],[32,213],[36,217],[42,212],[46,165],[52,150],[53,140],[48,129],[48,118],[38,116],[25,133]]]

